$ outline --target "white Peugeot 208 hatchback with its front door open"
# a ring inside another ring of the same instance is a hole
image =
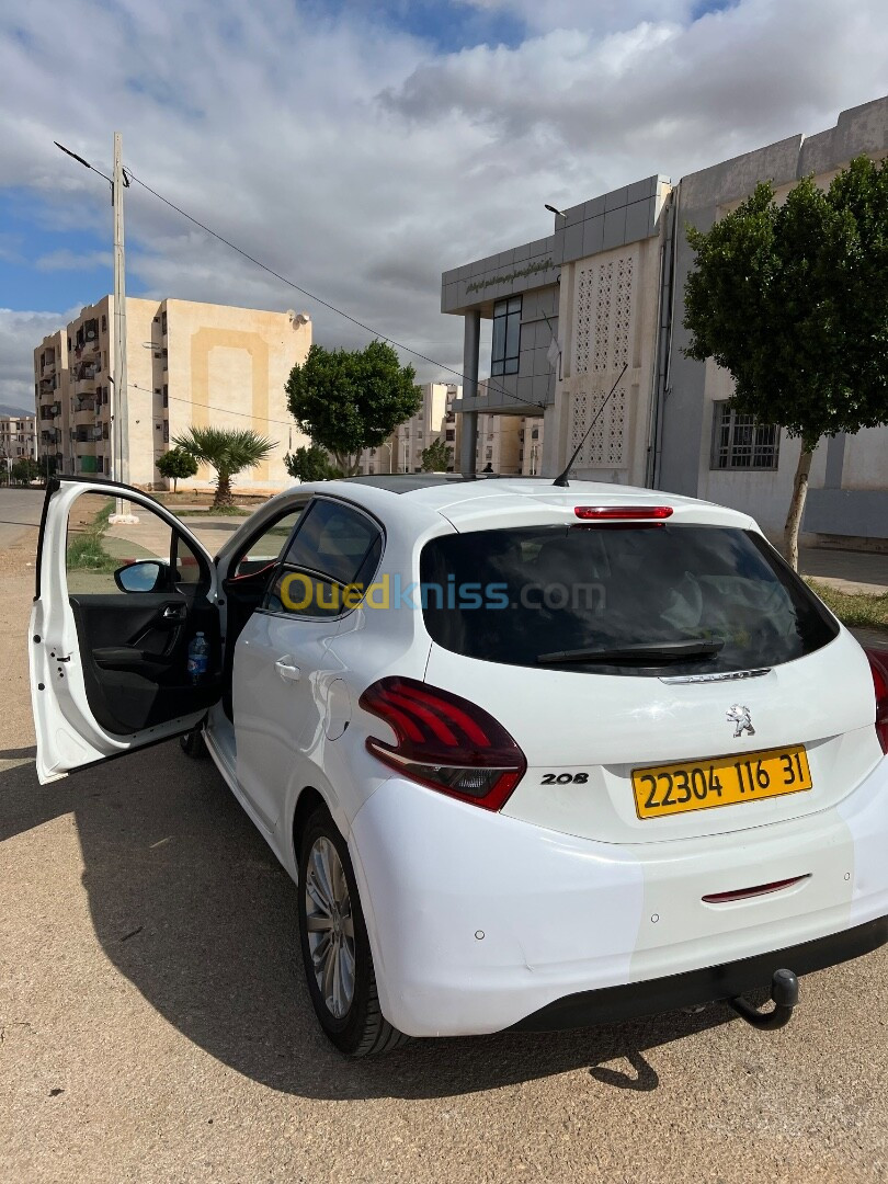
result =
[[[343,1053],[715,999],[776,1027],[794,973],[888,940],[888,655],[734,510],[353,478],[211,558],[63,477],[30,649],[43,783],[206,745],[298,886]]]

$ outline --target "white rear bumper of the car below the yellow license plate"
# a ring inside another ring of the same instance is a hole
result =
[[[543,830],[392,777],[354,817],[349,849],[380,1003],[401,1031],[600,1023],[767,986],[781,965],[855,957],[858,938],[880,945],[888,758],[837,807],[645,844]],[[703,900],[793,876],[770,895]]]

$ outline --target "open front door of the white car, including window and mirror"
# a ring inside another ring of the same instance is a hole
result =
[[[115,498],[129,521],[116,520]],[[210,657],[193,678],[188,646],[198,632]],[[187,732],[221,695],[212,559],[147,494],[52,478],[28,651],[41,784]]]

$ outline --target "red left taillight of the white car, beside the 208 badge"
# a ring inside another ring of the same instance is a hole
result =
[[[481,707],[416,678],[380,678],[359,706],[397,736],[367,738],[367,748],[404,777],[462,802],[498,810],[525,776],[525,754]]]

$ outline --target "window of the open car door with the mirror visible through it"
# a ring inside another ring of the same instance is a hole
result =
[[[115,501],[82,494],[67,516],[65,575],[70,596],[126,596],[198,588],[206,564],[168,522],[135,506],[137,522],[109,522]]]

